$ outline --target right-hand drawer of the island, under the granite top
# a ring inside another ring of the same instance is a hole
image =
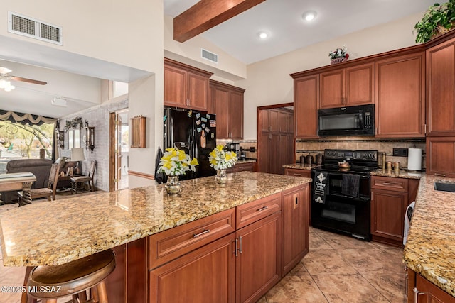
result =
[[[282,209],[281,194],[272,194],[268,197],[237,206],[236,227],[242,228],[260,219],[276,213]]]

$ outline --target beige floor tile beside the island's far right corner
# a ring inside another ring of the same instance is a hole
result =
[[[302,262],[310,275],[355,274],[357,270],[347,263],[336,250],[310,250]]]

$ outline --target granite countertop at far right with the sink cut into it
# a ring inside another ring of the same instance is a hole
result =
[[[434,182],[455,179],[422,175],[404,261],[455,297],[455,192],[434,190]]]

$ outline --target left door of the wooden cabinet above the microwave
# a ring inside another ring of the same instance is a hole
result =
[[[320,109],[340,107],[344,104],[344,70],[333,70],[321,73]]]

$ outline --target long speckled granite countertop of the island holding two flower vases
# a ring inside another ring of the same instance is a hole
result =
[[[6,266],[60,265],[159,233],[256,199],[311,182],[260,172],[181,181],[168,195],[164,184],[42,202],[0,215]]]

